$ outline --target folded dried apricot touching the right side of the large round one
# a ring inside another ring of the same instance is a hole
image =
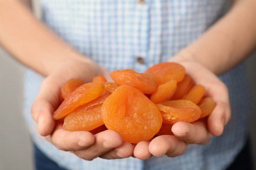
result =
[[[160,110],[163,122],[174,124],[179,121],[193,122],[199,119],[201,109],[195,103],[188,100],[172,100],[156,104]]]

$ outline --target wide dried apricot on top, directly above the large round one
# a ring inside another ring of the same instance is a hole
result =
[[[156,89],[156,80],[152,74],[123,69],[112,71],[110,76],[118,85],[129,85],[142,93],[151,94]]]

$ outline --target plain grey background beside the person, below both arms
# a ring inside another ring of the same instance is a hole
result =
[[[255,64],[256,57],[247,60],[254,101],[256,101]],[[24,66],[0,49],[0,170],[33,170],[30,136],[22,117],[24,69]],[[254,158],[256,158],[255,110],[254,107],[251,119]]]

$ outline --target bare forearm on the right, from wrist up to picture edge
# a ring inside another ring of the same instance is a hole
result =
[[[256,47],[255,8],[255,0],[237,0],[227,15],[178,56],[200,62],[215,74],[234,67]]]

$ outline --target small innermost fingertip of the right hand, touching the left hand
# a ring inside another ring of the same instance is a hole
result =
[[[148,150],[150,142],[142,141],[139,142],[134,148],[134,157],[140,160],[146,160],[151,156],[151,153]]]

